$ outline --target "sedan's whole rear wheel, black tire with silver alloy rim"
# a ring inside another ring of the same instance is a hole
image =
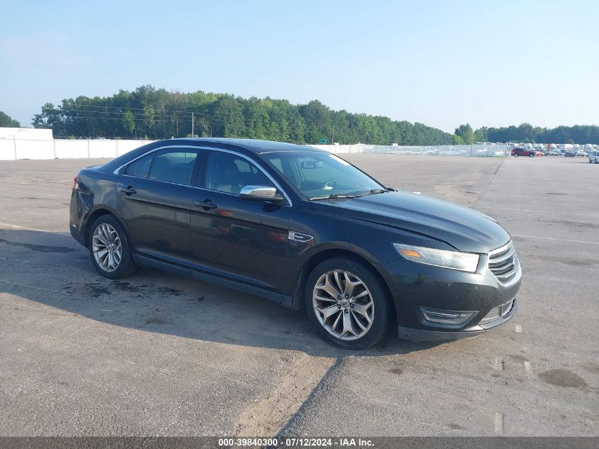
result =
[[[126,277],[135,271],[127,234],[112,215],[103,215],[91,225],[89,254],[96,270],[108,279]]]

